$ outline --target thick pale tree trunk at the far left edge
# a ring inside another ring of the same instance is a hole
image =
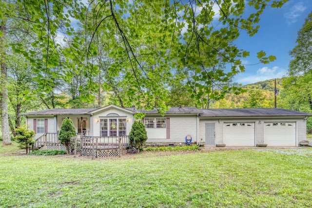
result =
[[[7,66],[5,54],[5,38],[6,38],[6,25],[0,25],[0,31],[3,33],[0,37],[0,63],[1,63],[1,76],[0,76],[0,110],[1,110],[1,132],[2,144],[10,145],[11,136],[9,130],[9,114],[8,114],[8,85],[7,85]]]

